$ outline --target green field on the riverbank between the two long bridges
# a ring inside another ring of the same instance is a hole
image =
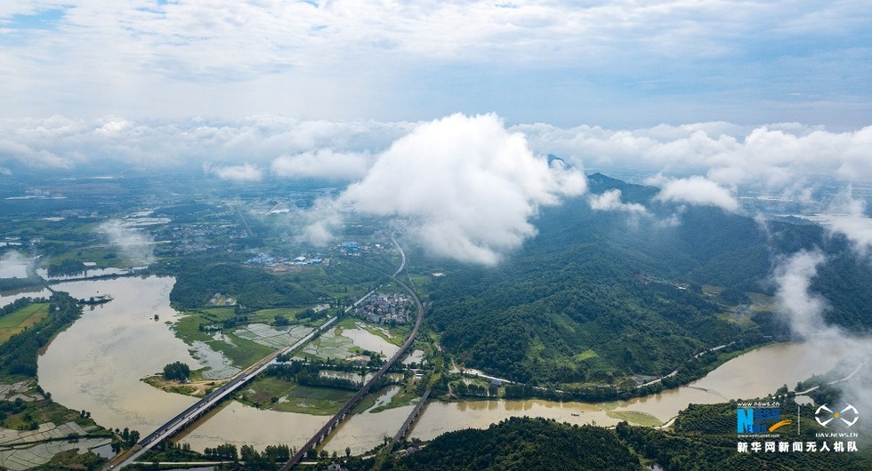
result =
[[[237,399],[261,409],[305,414],[335,414],[354,395],[331,387],[308,387],[277,378],[255,379]],[[275,400],[273,400],[275,398]]]

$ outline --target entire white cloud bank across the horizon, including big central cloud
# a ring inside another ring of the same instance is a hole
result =
[[[548,124],[505,129],[497,116],[422,123],[52,116],[0,120],[0,179],[24,171],[133,169],[203,172],[243,182],[348,181],[351,188],[339,201],[322,202],[309,215],[315,221],[308,229],[312,238],[329,237],[339,223],[335,207],[353,205],[409,218],[436,253],[490,263],[535,234],[529,221],[540,206],[583,192],[580,172],[562,169],[558,161],[549,167],[534,156],[554,154],[575,168],[606,173],[632,169],[635,181],[648,179],[662,188],[660,200],[675,204],[740,211],[739,196],[754,191],[804,207],[817,204],[814,211],[821,212],[828,202],[816,199],[820,188],[832,194],[835,185],[854,182],[860,188],[872,181],[870,148],[872,126],[847,132],[722,122],[634,130]],[[590,204],[600,211],[642,213],[615,193],[592,196]],[[828,213],[821,220],[831,231],[868,251],[872,220],[862,203]]]

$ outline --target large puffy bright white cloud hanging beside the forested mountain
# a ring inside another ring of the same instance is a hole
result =
[[[541,206],[584,191],[581,172],[534,156],[497,116],[454,115],[394,142],[337,203],[408,218],[433,253],[493,264],[536,234]]]

